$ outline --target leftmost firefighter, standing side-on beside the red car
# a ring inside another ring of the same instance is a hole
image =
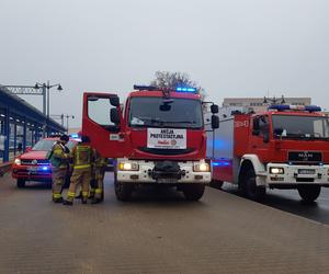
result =
[[[70,160],[69,149],[65,146],[69,141],[67,135],[61,135],[59,140],[55,142],[48,159],[52,163],[53,178],[53,202],[61,203],[61,190],[67,176],[67,165]]]

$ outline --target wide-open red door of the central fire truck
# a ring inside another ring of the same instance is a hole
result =
[[[82,135],[103,157],[125,156],[122,109],[116,94],[83,93]]]

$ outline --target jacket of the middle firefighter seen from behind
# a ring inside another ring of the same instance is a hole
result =
[[[94,161],[93,149],[89,144],[79,142],[71,151],[73,169],[88,169]]]

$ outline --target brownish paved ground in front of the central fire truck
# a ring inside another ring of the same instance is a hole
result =
[[[0,178],[0,273],[329,273],[329,227],[207,187],[72,207]]]

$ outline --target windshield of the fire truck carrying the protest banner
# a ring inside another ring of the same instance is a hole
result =
[[[133,127],[202,128],[202,105],[192,99],[132,98]]]

